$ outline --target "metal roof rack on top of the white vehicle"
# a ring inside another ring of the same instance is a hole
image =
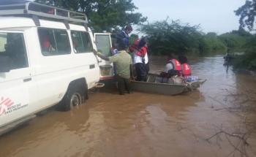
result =
[[[34,17],[53,18],[72,23],[83,23],[87,26],[87,16],[80,12],[73,12],[67,9],[51,7],[32,1],[25,1],[23,4],[0,5],[0,15],[32,15]]]

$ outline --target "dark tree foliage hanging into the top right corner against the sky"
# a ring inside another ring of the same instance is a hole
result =
[[[250,31],[252,31],[256,16],[256,1],[246,0],[245,4],[239,7],[235,12],[236,15],[240,16],[240,27],[247,27]]]

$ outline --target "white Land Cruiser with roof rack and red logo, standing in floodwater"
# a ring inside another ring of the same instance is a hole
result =
[[[0,15],[0,134],[87,99],[100,72],[86,15],[34,2],[1,5]]]

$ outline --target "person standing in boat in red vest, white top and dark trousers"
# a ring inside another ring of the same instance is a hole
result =
[[[136,80],[146,82],[148,67],[148,46],[146,38],[138,39],[129,47],[133,55],[133,64],[135,65]]]

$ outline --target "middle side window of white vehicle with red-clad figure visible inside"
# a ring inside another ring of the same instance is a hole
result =
[[[71,53],[67,31],[38,28],[38,35],[43,55],[64,55]]]

